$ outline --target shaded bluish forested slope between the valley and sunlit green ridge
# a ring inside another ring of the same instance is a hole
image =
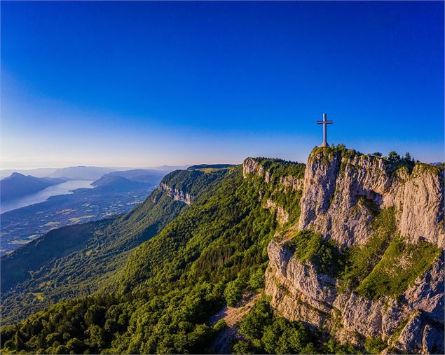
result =
[[[163,181],[180,181],[172,172]],[[200,173],[205,188],[224,176]],[[208,176],[207,176],[208,175]],[[189,176],[184,176],[184,179]],[[196,193],[200,191],[196,189]],[[1,316],[18,321],[57,300],[88,295],[114,284],[108,280],[132,249],[162,230],[186,207],[155,190],[128,214],[105,221],[73,225],[48,232],[1,258]],[[117,286],[116,286],[117,287]]]

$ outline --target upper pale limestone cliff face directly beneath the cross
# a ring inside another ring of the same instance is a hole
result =
[[[316,148],[306,165],[299,228],[341,246],[364,244],[373,210],[395,207],[401,235],[444,247],[443,204],[444,174],[435,167],[392,172],[383,158]]]

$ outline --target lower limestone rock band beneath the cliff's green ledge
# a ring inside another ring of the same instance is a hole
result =
[[[360,345],[366,337],[381,337],[409,354],[443,353],[443,254],[397,300],[377,301],[339,293],[336,279],[300,263],[285,242],[271,242],[268,255],[266,294],[287,319],[327,328],[342,342]]]

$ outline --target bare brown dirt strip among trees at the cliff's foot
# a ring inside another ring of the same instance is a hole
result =
[[[243,296],[242,300],[238,302],[235,307],[222,307],[217,314],[210,317],[209,323],[213,326],[220,319],[226,321],[228,328],[221,330],[217,335],[216,339],[212,343],[212,349],[214,354],[230,354],[231,343],[236,340],[240,335],[238,334],[239,321],[254,305],[254,300],[259,298],[260,294],[249,294]]]

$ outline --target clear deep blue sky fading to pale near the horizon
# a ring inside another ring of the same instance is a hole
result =
[[[442,2],[1,1],[4,168],[444,160]]]

